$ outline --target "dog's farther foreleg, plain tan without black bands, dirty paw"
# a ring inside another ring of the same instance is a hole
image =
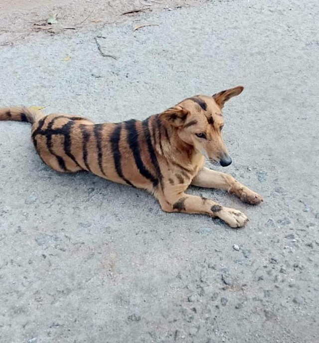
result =
[[[249,204],[257,205],[264,201],[261,195],[242,185],[231,175],[220,173],[206,167],[199,171],[193,178],[191,184],[198,187],[224,189]]]

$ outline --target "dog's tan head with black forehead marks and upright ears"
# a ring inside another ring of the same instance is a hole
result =
[[[193,146],[212,162],[226,167],[231,158],[222,137],[222,108],[226,101],[239,95],[244,87],[223,90],[213,96],[187,98],[160,114],[160,119],[174,127],[178,137]]]

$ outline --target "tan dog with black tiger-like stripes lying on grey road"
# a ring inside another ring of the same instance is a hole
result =
[[[221,110],[242,91],[238,86],[187,98],[144,121],[95,124],[84,117],[44,115],[26,107],[2,108],[0,120],[31,123],[36,151],[56,171],[90,171],[148,190],[163,211],[206,214],[238,228],[248,221],[243,213],[184,192],[192,184],[227,190],[250,204],[263,201],[232,176],[204,167],[205,157],[223,167],[231,164],[221,134]]]

